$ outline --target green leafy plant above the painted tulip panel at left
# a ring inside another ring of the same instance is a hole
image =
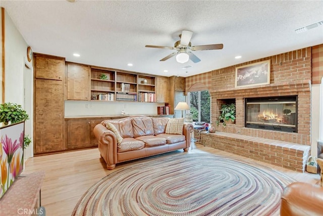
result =
[[[21,105],[15,103],[0,104],[0,122],[4,122],[5,125],[10,123],[17,123],[29,119],[27,112]]]

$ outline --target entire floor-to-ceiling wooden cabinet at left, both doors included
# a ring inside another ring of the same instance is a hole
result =
[[[34,154],[64,150],[65,59],[34,54]]]

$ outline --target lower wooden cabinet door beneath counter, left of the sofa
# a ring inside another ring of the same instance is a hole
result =
[[[67,148],[92,146],[90,129],[90,120],[69,120],[67,122]]]

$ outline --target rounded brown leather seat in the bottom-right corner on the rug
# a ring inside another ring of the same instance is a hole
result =
[[[322,215],[323,187],[294,182],[285,188],[281,201],[281,216]]]

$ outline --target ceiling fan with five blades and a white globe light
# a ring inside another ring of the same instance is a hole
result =
[[[200,62],[201,60],[197,56],[195,56],[191,51],[223,49],[223,44],[191,46],[190,40],[192,35],[193,35],[192,31],[183,30],[182,34],[179,35],[181,40],[176,41],[174,44],[174,47],[163,47],[163,46],[154,46],[154,45],[146,45],[145,47],[176,50],[175,53],[172,53],[166,56],[165,58],[160,59],[159,61],[166,61],[172,58],[173,56],[176,56],[176,60],[179,63],[185,63],[189,59],[192,60],[192,62],[194,63]]]

